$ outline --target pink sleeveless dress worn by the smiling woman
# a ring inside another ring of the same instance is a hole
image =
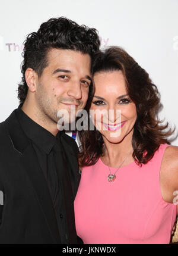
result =
[[[74,208],[77,235],[84,243],[170,242],[176,205],[163,200],[159,181],[167,146],[161,144],[142,167],[135,162],[121,167],[114,182],[107,180],[109,168],[101,159],[83,168]]]

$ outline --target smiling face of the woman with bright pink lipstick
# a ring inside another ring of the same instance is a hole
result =
[[[94,84],[96,90],[90,108],[94,126],[112,143],[132,136],[136,106],[129,98],[122,71],[98,72],[94,74]]]

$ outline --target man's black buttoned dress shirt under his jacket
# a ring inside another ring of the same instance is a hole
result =
[[[53,207],[55,209],[56,220],[58,223],[61,243],[68,243],[68,235],[66,230],[66,216],[64,207],[64,198],[62,196],[59,177],[57,174],[57,166],[55,162],[55,144],[58,144],[59,150],[63,150],[60,143],[60,134],[55,136],[48,132],[42,126],[31,120],[23,110],[19,107],[17,110],[17,118],[27,138],[31,140],[34,151],[37,155],[40,167],[45,176],[47,187],[52,198]],[[61,161],[61,160],[60,160]],[[65,158],[63,158],[65,161]],[[61,163],[60,163],[61,164]]]

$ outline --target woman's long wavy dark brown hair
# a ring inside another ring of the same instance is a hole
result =
[[[134,58],[118,46],[98,52],[93,65],[93,75],[116,70],[122,71],[128,95],[136,105],[137,118],[132,136],[134,149],[132,156],[136,164],[141,166],[151,160],[161,143],[170,144],[167,138],[173,134],[174,130],[169,128],[169,123],[163,124],[163,121],[158,120],[158,111],[161,107],[160,93],[148,73],[136,63]],[[90,88],[85,107],[88,115],[93,96],[94,85]],[[80,166],[95,164],[103,154],[101,133],[96,128],[89,130],[88,121],[88,130],[78,131],[78,136],[81,142]]]

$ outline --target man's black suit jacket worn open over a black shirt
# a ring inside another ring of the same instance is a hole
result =
[[[76,142],[65,133],[61,143],[68,172],[62,184],[68,218],[68,241],[77,243],[73,202],[80,182]],[[55,211],[31,141],[15,110],[0,124],[0,243],[61,243]]]

